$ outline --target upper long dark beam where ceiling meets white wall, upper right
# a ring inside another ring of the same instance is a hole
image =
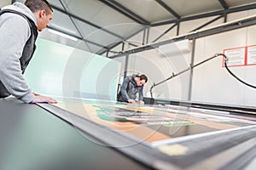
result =
[[[211,12],[211,13],[197,14],[197,15],[193,15],[193,16],[189,16],[189,17],[183,17],[181,19],[166,20],[163,22],[151,24],[150,26],[163,26],[163,25],[187,21],[187,20],[197,20],[197,19],[202,19],[202,18],[211,17],[211,16],[215,16],[215,15],[230,14],[230,13],[240,12],[240,11],[254,9],[254,8],[256,8],[256,3],[241,6],[241,7],[236,7],[236,8],[228,8],[228,9],[224,9],[224,10],[219,10],[219,11],[215,11],[215,12]]]

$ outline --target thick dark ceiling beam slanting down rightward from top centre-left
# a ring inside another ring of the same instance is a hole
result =
[[[116,1],[109,1],[109,0],[99,0],[100,2],[108,5],[108,7],[113,8],[114,10],[118,11],[120,14],[124,14],[126,17],[130,18],[131,20],[136,21],[139,24],[143,25],[149,25],[150,23],[148,20],[144,20],[142,17],[139,15],[135,14],[132,12],[129,8],[125,8],[123,5],[120,3],[117,3]]]

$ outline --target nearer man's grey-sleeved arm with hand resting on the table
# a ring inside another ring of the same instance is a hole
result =
[[[31,34],[27,21],[17,14],[6,14],[3,20],[0,27],[0,80],[4,87],[9,94],[26,103],[55,103],[54,99],[32,94],[22,75],[20,57]]]

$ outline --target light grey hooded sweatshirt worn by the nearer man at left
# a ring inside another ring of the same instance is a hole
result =
[[[32,11],[23,3],[14,3],[2,9],[12,9],[25,14],[34,21]],[[28,88],[20,68],[20,57],[26,41],[31,36],[27,20],[19,14],[4,13],[0,15],[0,97],[13,95],[29,103],[35,98]],[[2,86],[1,86],[2,85]]]

